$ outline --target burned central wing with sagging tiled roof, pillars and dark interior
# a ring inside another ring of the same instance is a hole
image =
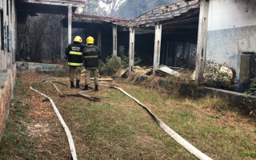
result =
[[[117,56],[118,46],[125,46],[130,53],[130,71],[134,57],[141,58],[144,65],[154,66],[154,70],[159,64],[194,69],[199,9],[200,3],[195,0],[158,7],[131,20],[73,14],[72,26],[97,38],[103,58]],[[67,18],[62,22],[66,24]]]

